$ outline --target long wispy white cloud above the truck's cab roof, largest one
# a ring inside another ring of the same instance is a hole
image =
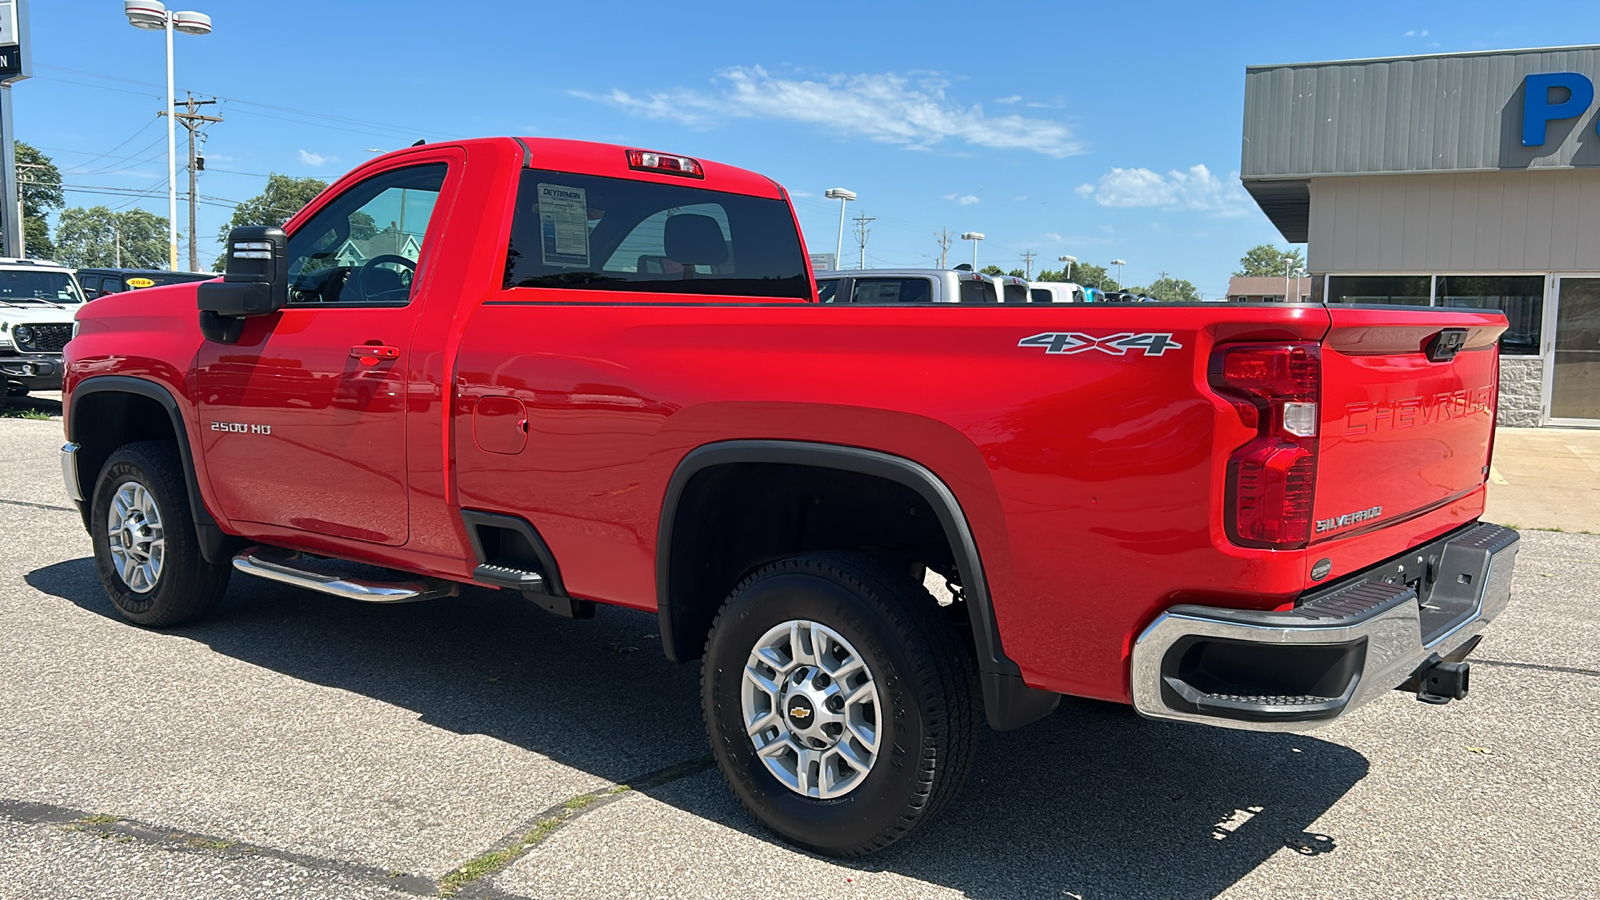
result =
[[[992,149],[1034,151],[1051,157],[1083,152],[1083,144],[1061,122],[1026,115],[987,115],[982,106],[963,106],[938,77],[910,80],[893,72],[781,78],[760,66],[723,69],[710,91],[675,88],[635,96],[571,91],[646,119],[669,119],[691,127],[714,127],[728,119],[776,119],[816,125],[834,135],[854,135],[907,149],[930,149],[946,139]]]

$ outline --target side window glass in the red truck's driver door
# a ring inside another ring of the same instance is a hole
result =
[[[408,303],[446,170],[386,171],[334,197],[290,237],[290,303]]]

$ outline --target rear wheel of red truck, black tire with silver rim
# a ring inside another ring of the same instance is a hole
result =
[[[869,556],[800,556],[750,575],[717,617],[704,666],[723,777],[810,850],[880,850],[971,770],[973,657],[920,585]]]

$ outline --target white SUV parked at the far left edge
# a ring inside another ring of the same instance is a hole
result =
[[[5,394],[61,389],[61,351],[83,291],[72,269],[0,258],[0,378]]]

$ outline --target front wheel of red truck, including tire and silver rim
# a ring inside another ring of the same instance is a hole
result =
[[[195,621],[227,591],[229,565],[200,556],[178,448],[146,440],[118,448],[94,484],[94,567],[128,621],[165,628]]]

